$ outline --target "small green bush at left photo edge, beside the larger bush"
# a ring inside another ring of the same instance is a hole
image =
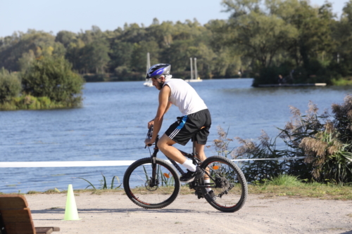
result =
[[[18,96],[22,87],[20,79],[14,73],[1,68],[0,70],[0,103],[5,103]]]

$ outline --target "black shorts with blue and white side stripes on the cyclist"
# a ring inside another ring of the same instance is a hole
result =
[[[172,141],[186,145],[194,135],[196,142],[205,145],[208,140],[211,117],[208,109],[200,110],[191,115],[177,117],[177,121],[165,131]]]

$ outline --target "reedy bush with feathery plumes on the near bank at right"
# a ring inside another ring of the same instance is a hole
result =
[[[352,96],[346,96],[341,105],[333,104],[333,115],[325,112],[318,116],[316,105],[309,103],[308,106],[306,115],[291,107],[291,121],[280,129],[273,142],[266,134],[260,137],[259,144],[238,138],[241,146],[236,150],[237,157],[306,156],[304,160],[245,162],[242,169],[247,181],[265,181],[289,174],[306,181],[352,182]],[[277,138],[282,138],[286,148],[276,149]]]

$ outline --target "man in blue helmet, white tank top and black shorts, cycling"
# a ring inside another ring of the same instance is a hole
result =
[[[194,179],[201,178],[204,171],[187,160],[182,153],[172,145],[179,143],[186,145],[192,136],[196,135],[196,157],[199,160],[206,160],[204,146],[209,135],[211,117],[206,104],[199,97],[198,93],[183,79],[171,78],[170,64],[153,65],[146,79],[151,79],[153,86],[159,92],[159,105],[156,117],[148,122],[148,128],[153,124],[153,136],[146,139],[146,145],[156,141],[156,136],[163,124],[163,117],[172,104],[176,105],[182,112],[182,117],[177,117],[177,122],[170,125],[165,134],[158,141],[158,148],[172,160],[187,168],[187,173],[181,176],[180,181],[188,183]],[[204,178],[205,183],[210,183],[209,178]],[[207,188],[208,193],[210,188]]]

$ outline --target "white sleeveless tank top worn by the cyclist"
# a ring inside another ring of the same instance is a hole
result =
[[[198,93],[183,79],[166,79],[164,85],[166,84],[171,89],[170,103],[176,105],[182,115],[208,109]]]

